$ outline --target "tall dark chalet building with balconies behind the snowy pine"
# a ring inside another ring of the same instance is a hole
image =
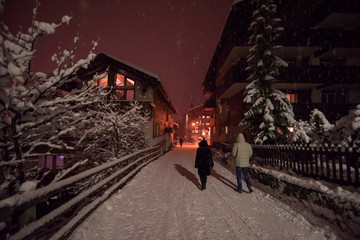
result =
[[[280,69],[275,88],[293,105],[295,118],[308,120],[314,108],[330,122],[360,103],[360,1],[275,1],[284,32],[276,55]],[[244,114],[248,72],[248,31],[254,11],[250,0],[235,1],[203,81],[205,105],[214,116],[212,141],[233,143]]]

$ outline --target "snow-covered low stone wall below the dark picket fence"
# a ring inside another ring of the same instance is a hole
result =
[[[252,179],[271,187],[276,197],[295,209],[304,209],[325,219],[340,235],[360,237],[360,194],[340,186],[331,189],[320,181],[301,179],[256,165],[252,165],[249,172]]]

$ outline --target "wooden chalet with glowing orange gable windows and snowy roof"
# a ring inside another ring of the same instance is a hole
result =
[[[81,69],[77,77],[80,81],[93,79],[94,74],[104,73],[98,86],[108,86],[105,91],[116,97],[118,104],[129,101],[142,102],[151,111],[148,126],[143,131],[150,146],[165,143],[168,151],[174,142],[174,115],[178,112],[159,77],[139,66],[110,54],[100,53],[87,69]]]

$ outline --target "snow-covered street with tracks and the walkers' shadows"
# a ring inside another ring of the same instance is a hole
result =
[[[235,176],[217,162],[201,191],[195,153],[184,145],[147,165],[70,239],[336,238],[256,188],[237,193]]]

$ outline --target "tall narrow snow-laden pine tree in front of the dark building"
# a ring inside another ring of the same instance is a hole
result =
[[[247,57],[250,72],[244,102],[250,107],[244,114],[240,125],[245,126],[255,136],[256,143],[285,142],[288,127],[295,123],[294,113],[289,100],[281,91],[274,89],[279,67],[287,63],[275,56],[274,41],[283,28],[275,25],[276,5],[272,0],[252,0],[255,11],[249,31],[251,49]]]

